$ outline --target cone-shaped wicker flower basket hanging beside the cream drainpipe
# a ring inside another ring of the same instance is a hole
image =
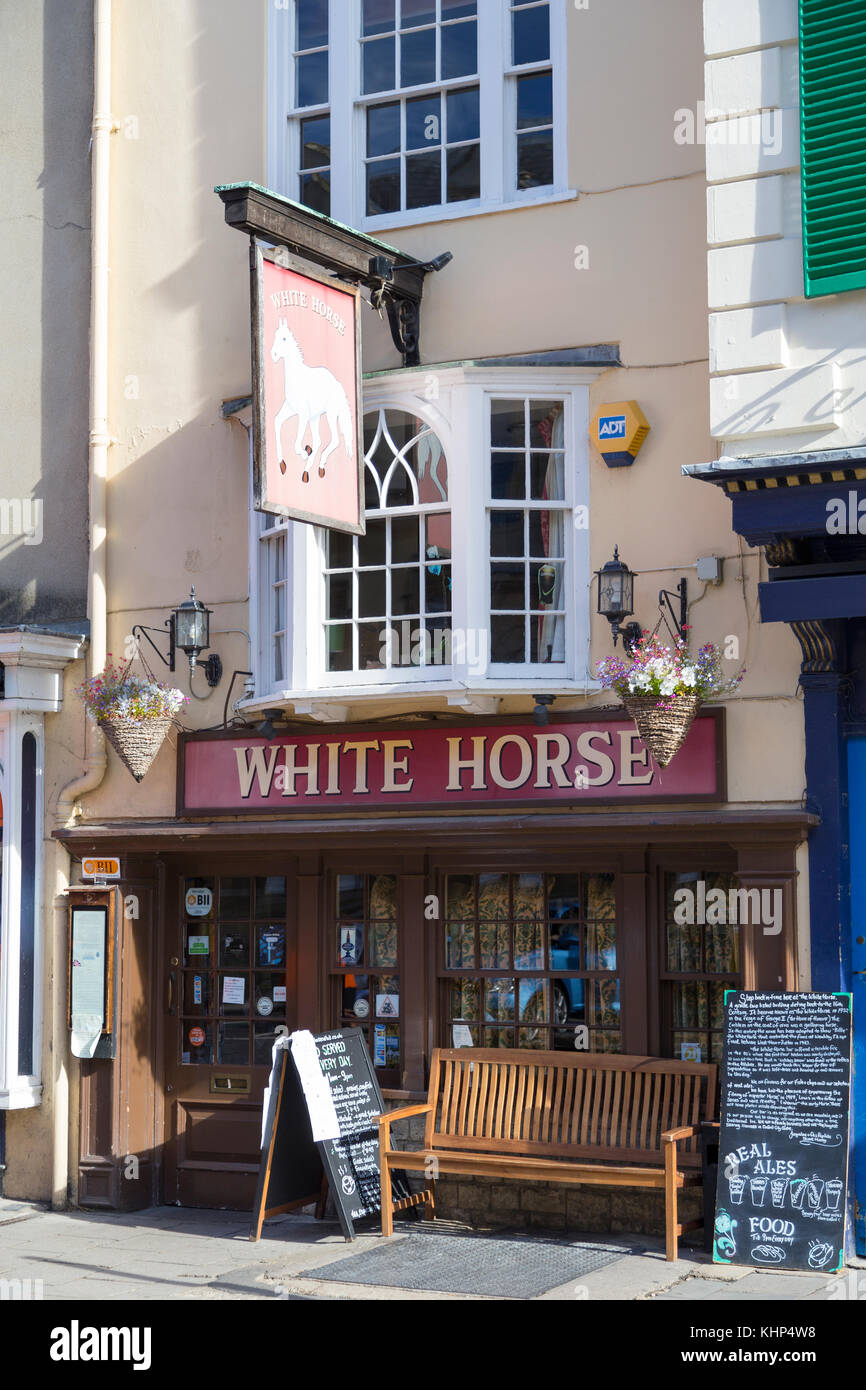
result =
[[[75,694],[139,783],[163,746],[174,716],[189,701],[183,691],[163,685],[150,674],[132,676],[129,664],[121,669],[111,660]]]

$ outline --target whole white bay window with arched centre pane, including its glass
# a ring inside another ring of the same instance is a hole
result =
[[[596,688],[591,379],[573,367],[371,378],[366,534],[256,520],[257,698]]]

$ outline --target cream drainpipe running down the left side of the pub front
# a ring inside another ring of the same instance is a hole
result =
[[[101,671],[107,653],[106,600],[106,491],[108,480],[108,235],[111,160],[111,0],[93,0],[93,124],[90,136],[90,555],[88,564],[88,616],[90,619],[90,673]],[[68,783],[57,802],[57,824],[70,824],[79,796],[95,791],[106,776],[106,739],[93,720],[85,719],[85,773]],[[53,1009],[53,1155],[51,1205],[64,1208],[70,1184],[70,1055],[65,1020],[67,915],[54,910],[54,1009]],[[78,1127],[78,1126],[76,1126]]]

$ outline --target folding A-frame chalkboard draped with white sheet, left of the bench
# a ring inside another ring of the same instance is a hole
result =
[[[343,1236],[353,1240],[354,1222],[375,1216],[382,1204],[377,1120],[385,1102],[373,1059],[360,1029],[293,1038],[314,1044],[316,1054],[293,1048],[292,1038],[277,1051],[250,1238],[259,1240],[267,1216],[317,1201],[324,1172]],[[395,1177],[395,1208],[423,1201],[402,1175]]]

